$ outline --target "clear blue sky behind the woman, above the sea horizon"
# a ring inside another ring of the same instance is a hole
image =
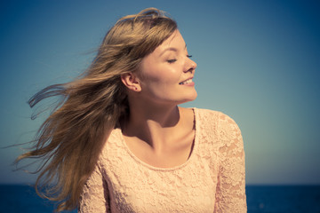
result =
[[[196,106],[222,111],[244,136],[247,184],[320,184],[318,1],[2,1],[0,141],[27,142],[44,117],[27,100],[90,64],[118,18],[156,7],[177,20],[197,62]],[[20,147],[0,149],[0,183]]]

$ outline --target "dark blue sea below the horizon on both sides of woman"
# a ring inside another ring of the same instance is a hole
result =
[[[247,185],[246,196],[248,213],[320,213],[320,185]],[[30,185],[0,185],[0,213],[49,213],[54,208]]]

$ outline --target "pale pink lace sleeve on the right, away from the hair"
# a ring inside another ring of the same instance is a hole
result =
[[[236,122],[219,116],[220,168],[214,212],[246,212],[244,143]]]

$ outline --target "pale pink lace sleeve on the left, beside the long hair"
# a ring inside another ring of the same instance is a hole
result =
[[[110,212],[108,200],[108,185],[101,174],[100,167],[97,166],[84,185],[78,212]]]

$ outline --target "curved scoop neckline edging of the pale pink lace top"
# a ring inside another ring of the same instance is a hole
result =
[[[169,167],[169,168],[155,167],[155,166],[152,166],[152,165],[148,164],[147,162],[143,162],[142,160],[140,160],[139,157],[137,157],[135,154],[133,154],[131,149],[129,148],[129,146],[127,146],[127,144],[124,141],[124,135],[123,135],[121,129],[116,129],[118,131],[119,136],[120,136],[121,143],[124,146],[124,149],[127,152],[127,154],[129,154],[135,162],[138,162],[140,165],[148,168],[149,170],[172,171],[172,170],[180,170],[181,168],[187,166],[189,164],[189,162],[193,161],[193,159],[195,158],[194,155],[197,152],[197,146],[198,146],[198,137],[197,137],[197,135],[199,135],[199,132],[198,132],[199,131],[198,119],[197,119],[198,115],[197,115],[196,107],[192,107],[191,109],[193,110],[193,113],[194,113],[195,138],[194,138],[194,142],[193,142],[194,146],[193,146],[192,152],[189,155],[188,160],[186,162],[183,162],[180,165],[177,165],[177,166],[174,166],[174,167]]]

